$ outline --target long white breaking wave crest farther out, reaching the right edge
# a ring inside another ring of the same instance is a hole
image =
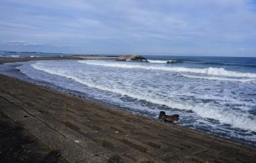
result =
[[[208,75],[220,75],[229,77],[251,77],[256,78],[256,74],[245,73],[245,72],[235,72],[225,70],[224,68],[185,68],[185,67],[170,67],[170,66],[144,66],[144,65],[134,65],[127,63],[113,63],[109,61],[78,61],[79,63],[86,63],[88,65],[98,65],[98,66],[109,66],[118,68],[143,68],[147,70],[164,70],[164,71],[174,71],[174,72],[192,72],[196,74],[208,74]]]

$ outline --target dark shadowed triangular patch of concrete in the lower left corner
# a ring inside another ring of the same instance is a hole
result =
[[[3,102],[3,101],[1,101]],[[2,106],[3,104],[1,104]],[[2,108],[3,109],[3,108]],[[7,108],[8,109],[8,108]],[[0,111],[0,162],[66,162]]]

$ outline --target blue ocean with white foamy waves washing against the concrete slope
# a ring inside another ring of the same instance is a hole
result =
[[[144,57],[149,62],[56,60],[5,66],[16,64],[23,79],[59,91],[154,119],[160,111],[179,114],[176,125],[255,146],[256,58]]]

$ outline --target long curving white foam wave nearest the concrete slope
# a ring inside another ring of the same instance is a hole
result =
[[[251,130],[256,132],[256,119],[248,118],[248,114],[238,113],[236,111],[225,111],[218,106],[212,106],[207,104],[191,104],[189,102],[175,102],[171,99],[164,100],[163,98],[159,99],[153,97],[152,95],[138,95],[129,91],[124,91],[123,89],[109,88],[108,86],[101,86],[93,82],[88,82],[83,79],[80,79],[79,76],[70,75],[67,71],[62,71],[56,68],[47,68],[40,65],[40,63],[32,64],[33,68],[37,70],[42,70],[49,74],[60,75],[62,77],[67,77],[73,79],[74,81],[80,82],[86,86],[101,89],[103,91],[111,91],[113,93],[118,93],[120,95],[126,95],[132,98],[137,98],[138,100],[145,100],[147,102],[152,102],[154,104],[166,105],[171,108],[182,109],[182,110],[191,110],[196,113],[198,116],[203,118],[211,118],[214,120],[220,121],[220,123],[225,123],[232,125],[232,127],[242,128],[244,130]]]

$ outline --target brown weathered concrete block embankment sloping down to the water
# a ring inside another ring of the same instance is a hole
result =
[[[149,120],[0,75],[1,124],[22,130],[34,160],[60,151],[60,162],[255,162],[256,150]],[[8,137],[0,126],[1,140]],[[9,128],[9,129],[8,129]],[[20,133],[20,131],[17,131]],[[10,134],[12,135],[12,134]],[[12,153],[12,145],[0,146]],[[22,158],[23,151],[16,154]],[[10,155],[10,154],[9,154]],[[14,155],[14,153],[13,153]],[[0,160],[1,162],[1,160]],[[8,161],[7,161],[8,162]],[[9,161],[10,162],[10,161]]]

